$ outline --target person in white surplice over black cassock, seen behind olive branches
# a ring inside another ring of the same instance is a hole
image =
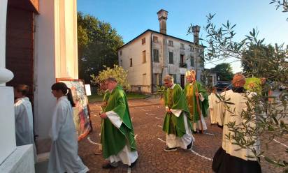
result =
[[[258,173],[261,172],[261,167],[250,149],[241,149],[240,146],[233,144],[234,141],[230,140],[227,135],[233,135],[234,133],[229,130],[227,123],[234,122],[237,125],[246,123],[251,127],[256,126],[254,121],[247,122],[243,119],[241,114],[247,110],[247,98],[252,98],[256,93],[247,93],[243,88],[245,84],[245,77],[241,74],[236,74],[233,77],[233,89],[224,91],[222,96],[225,100],[229,100],[229,106],[223,106],[224,122],[223,122],[223,135],[222,146],[215,153],[213,158],[213,171],[217,173]],[[223,104],[222,104],[223,105]],[[241,129],[239,129],[241,130]],[[248,139],[248,137],[247,137]],[[254,139],[256,142],[252,147],[254,151],[259,153],[259,139]]]

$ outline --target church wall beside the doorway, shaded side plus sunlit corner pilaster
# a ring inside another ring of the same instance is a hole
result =
[[[78,79],[76,0],[39,1],[34,34],[34,121],[38,140],[47,140],[56,100],[55,78]]]

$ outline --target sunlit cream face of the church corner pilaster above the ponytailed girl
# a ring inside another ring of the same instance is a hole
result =
[[[55,68],[57,78],[78,79],[75,0],[55,0]]]

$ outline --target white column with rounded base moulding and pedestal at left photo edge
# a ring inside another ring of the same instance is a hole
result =
[[[13,89],[5,83],[13,73],[5,68],[7,0],[0,1],[0,165],[16,149]]]

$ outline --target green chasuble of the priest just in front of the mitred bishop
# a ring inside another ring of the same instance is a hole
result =
[[[173,89],[168,88],[164,93],[165,106],[172,110],[182,110],[179,117],[175,116],[172,112],[166,112],[164,119],[163,130],[167,134],[174,134],[177,137],[185,135],[184,112],[187,114],[188,128],[191,128],[189,121],[189,110],[187,107],[185,95],[179,84],[175,84]]]

